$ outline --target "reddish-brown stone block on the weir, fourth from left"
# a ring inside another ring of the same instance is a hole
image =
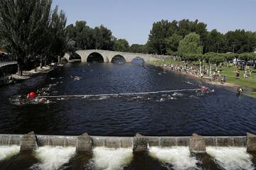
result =
[[[206,139],[194,133],[189,139],[190,152],[206,152]]]

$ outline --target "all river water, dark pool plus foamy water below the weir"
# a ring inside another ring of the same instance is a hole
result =
[[[208,90],[198,90],[200,86]],[[30,91],[45,99],[26,99]],[[142,94],[155,91],[160,92]],[[256,133],[255,101],[146,64],[67,64],[0,89],[0,133],[245,135]],[[0,169],[255,169],[256,155],[245,148],[206,150],[207,154],[191,154],[188,147],[151,147],[146,154],[132,154],[132,148],[96,147],[92,154],[80,155],[75,147],[46,146],[19,153],[18,146],[0,146]]]

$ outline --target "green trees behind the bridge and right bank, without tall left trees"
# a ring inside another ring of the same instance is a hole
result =
[[[230,30],[223,34],[216,29],[208,31],[206,23],[198,20],[155,22],[145,45],[129,46],[127,40],[114,38],[112,31],[104,26],[90,28],[85,21],[77,21],[75,26],[71,24],[66,30],[68,38],[75,41],[76,50],[101,49],[170,55],[176,51],[203,54],[207,52],[243,53],[253,52],[256,48],[255,32]],[[189,43],[191,46],[186,47],[189,40],[193,43]]]

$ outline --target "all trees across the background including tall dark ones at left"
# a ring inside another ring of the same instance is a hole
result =
[[[86,21],[66,26],[65,13],[51,5],[52,0],[1,0],[0,45],[18,62],[19,74],[23,69],[60,60],[65,52],[90,49],[177,55],[184,60],[214,54],[205,58],[211,62],[221,61],[223,56],[227,59],[230,55],[225,53],[233,52],[243,54],[238,56],[246,61],[254,59],[250,52],[256,48],[256,33],[252,31],[223,34],[218,30],[209,32],[206,23],[198,20],[162,20],[153,23],[146,44],[129,45],[127,40],[115,38],[105,26],[90,28]]]

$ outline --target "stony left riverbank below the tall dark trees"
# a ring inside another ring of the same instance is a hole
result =
[[[23,71],[23,75],[20,76],[18,73],[11,74],[6,77],[2,77],[0,79],[0,86],[6,86],[9,84],[15,84],[23,80],[32,79],[34,77],[42,76],[43,74],[48,74],[49,72],[52,72],[55,69],[58,69],[58,67],[63,67],[63,63],[60,63],[55,66],[46,65],[45,67],[36,67],[36,69],[31,69],[29,71]]]

